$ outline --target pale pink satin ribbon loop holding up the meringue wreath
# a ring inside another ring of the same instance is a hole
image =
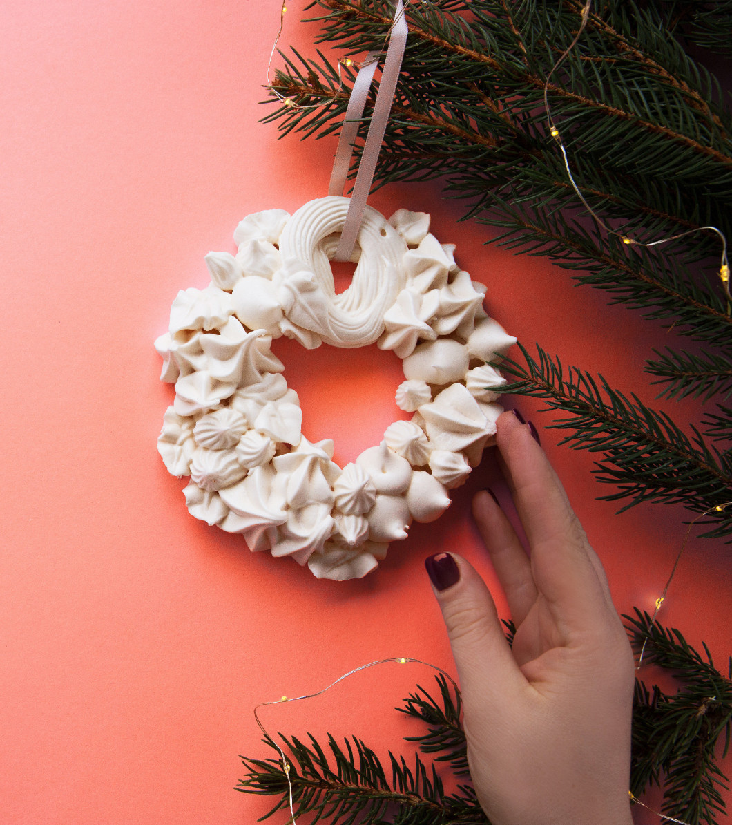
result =
[[[378,155],[381,151],[384,133],[387,130],[389,114],[392,111],[394,92],[397,88],[397,80],[401,71],[401,60],[404,57],[406,47],[406,35],[408,34],[406,16],[401,0],[397,0],[397,9],[394,12],[394,22],[389,35],[389,45],[387,56],[384,59],[381,82],[378,86],[376,103],[373,106],[371,115],[371,125],[368,127],[368,135],[364,144],[364,151],[361,154],[359,172],[356,176],[354,191],[351,195],[348,214],[345,224],[340,233],[340,242],[333,257],[335,261],[349,261],[354,251],[354,244],[359,234],[361,219],[364,217],[366,199],[371,191],[373,174],[376,171]],[[342,195],[345,188],[345,181],[348,177],[350,161],[353,157],[354,142],[359,130],[359,120],[364,115],[368,90],[371,87],[373,73],[379,52],[369,52],[364,65],[360,68],[359,74],[354,82],[348,109],[345,113],[345,122],[340,132],[340,140],[336,150],[336,159],[333,163],[331,174],[331,185],[328,189],[329,195]]]

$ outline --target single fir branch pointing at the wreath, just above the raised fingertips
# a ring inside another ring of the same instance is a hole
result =
[[[541,347],[538,361],[519,347],[526,366],[510,358],[501,362],[500,369],[518,379],[502,392],[542,398],[549,410],[567,414],[549,427],[570,431],[561,444],[603,452],[604,460],[596,462],[594,471],[598,481],[619,486],[617,493],[603,498],[630,498],[622,510],[643,501],[681,503],[693,512],[711,510],[706,520],[716,526],[704,535],[732,534],[732,516],[714,509],[729,502],[732,457],[712,453],[696,431],[692,443],[667,415],[646,407],[635,395],[626,398],[602,376],[598,385],[577,367],[565,371],[561,361]]]

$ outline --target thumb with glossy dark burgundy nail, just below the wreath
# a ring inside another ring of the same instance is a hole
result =
[[[466,706],[504,704],[526,679],[504,636],[486,583],[465,559],[440,553],[425,559],[434,595],[448,629]]]

